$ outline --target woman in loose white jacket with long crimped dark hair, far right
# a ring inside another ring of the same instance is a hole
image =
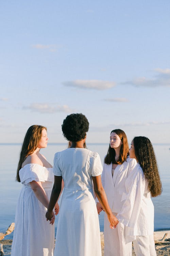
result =
[[[130,158],[135,158],[137,165],[125,182],[126,195],[117,218],[125,226],[126,242],[133,241],[136,256],[156,256],[151,196],[162,193],[162,184],[150,140],[135,137],[131,142]]]

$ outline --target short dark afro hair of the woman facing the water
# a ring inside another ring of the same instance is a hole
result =
[[[72,142],[84,139],[88,128],[89,122],[82,113],[68,115],[62,124],[64,137]]]

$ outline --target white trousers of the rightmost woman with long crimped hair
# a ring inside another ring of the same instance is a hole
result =
[[[136,240],[133,241],[133,247],[136,256],[156,256],[153,235],[136,236]]]

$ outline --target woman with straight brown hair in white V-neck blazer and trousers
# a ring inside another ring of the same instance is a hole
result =
[[[102,185],[107,195],[112,212],[117,215],[123,202],[122,194],[125,193],[125,181],[134,169],[137,162],[129,158],[129,145],[126,134],[120,129],[111,131],[110,144],[107,155],[104,158]],[[100,213],[103,208],[97,201],[97,210]],[[124,225],[119,223],[117,228],[109,230],[107,216],[104,216],[104,255],[105,256],[131,256],[132,242],[125,243]]]

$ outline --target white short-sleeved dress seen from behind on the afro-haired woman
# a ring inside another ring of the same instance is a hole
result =
[[[55,256],[101,256],[92,176],[100,175],[102,169],[98,153],[86,148],[68,148],[55,154],[54,175],[64,180]]]

